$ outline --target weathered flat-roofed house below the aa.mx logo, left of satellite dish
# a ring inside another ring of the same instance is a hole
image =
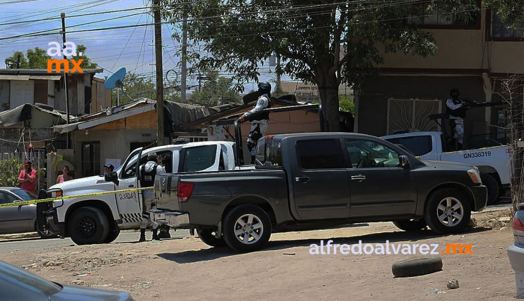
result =
[[[94,77],[103,69],[68,73],[69,113],[90,114],[111,106],[111,91],[103,79]],[[65,112],[64,76],[47,69],[0,69],[0,112],[24,104],[44,104]]]

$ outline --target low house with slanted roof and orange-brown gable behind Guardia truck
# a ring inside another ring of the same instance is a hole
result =
[[[203,106],[165,101],[163,144],[178,137],[181,125],[216,112]],[[71,134],[75,176],[98,175],[103,173],[105,164],[115,168],[123,164],[132,150],[156,146],[156,101],[136,99],[78,117],[71,124],[55,126],[54,131]]]

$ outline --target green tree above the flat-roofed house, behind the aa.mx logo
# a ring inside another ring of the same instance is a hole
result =
[[[79,60],[83,59],[83,62],[80,64],[82,69],[97,68],[96,63],[91,62],[91,59],[85,54],[87,48],[82,44],[77,45],[77,53],[82,52],[82,55],[73,56],[72,59]],[[13,55],[6,58],[6,63],[10,64],[10,68],[16,68],[16,60],[20,55],[20,68],[25,69],[45,69],[47,68],[47,60],[51,59],[47,55],[47,50],[35,47],[34,49],[28,49],[26,53],[21,51],[14,51]]]

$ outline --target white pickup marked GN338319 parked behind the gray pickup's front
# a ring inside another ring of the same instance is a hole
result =
[[[511,149],[508,145],[445,152],[441,132],[409,132],[380,137],[400,144],[423,161],[448,161],[474,165],[488,188],[488,205],[498,202],[511,182]]]

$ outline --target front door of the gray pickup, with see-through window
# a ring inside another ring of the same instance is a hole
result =
[[[344,139],[351,167],[350,217],[413,215],[417,189],[399,153],[376,140]]]

